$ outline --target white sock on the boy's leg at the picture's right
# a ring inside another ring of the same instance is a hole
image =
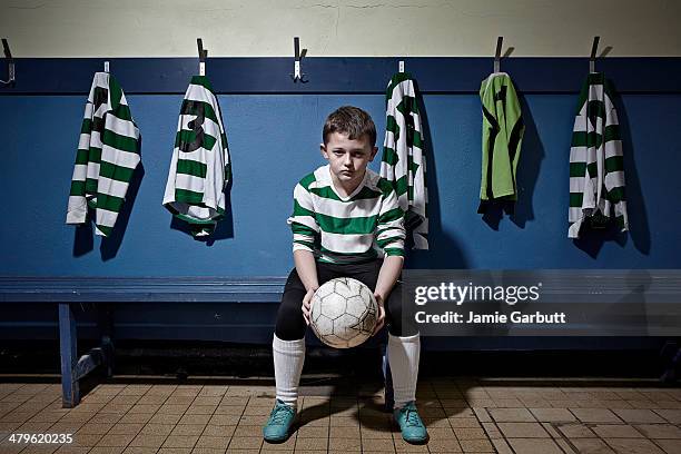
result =
[[[393,376],[395,408],[416,401],[416,381],[418,378],[418,357],[421,336],[393,336],[388,333],[388,358]]]

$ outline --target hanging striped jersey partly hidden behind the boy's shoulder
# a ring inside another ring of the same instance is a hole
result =
[[[427,249],[428,193],[423,129],[414,80],[408,72],[393,76],[386,90],[386,103],[381,176],[395,187],[414,249]]]

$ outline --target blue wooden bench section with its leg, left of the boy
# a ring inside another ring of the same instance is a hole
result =
[[[2,303],[55,303],[58,306],[62,406],[80,402],[79,381],[97,366],[114,369],[111,315],[115,305],[131,303],[278,303],[282,277],[0,277]],[[73,307],[98,306],[99,346],[78,357],[78,329]]]

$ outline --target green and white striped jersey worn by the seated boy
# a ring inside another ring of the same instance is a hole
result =
[[[393,185],[369,169],[348,197],[335,190],[328,165],[307,175],[294,189],[288,224],[293,250],[309,250],[318,261],[349,264],[404,256],[404,210]]]

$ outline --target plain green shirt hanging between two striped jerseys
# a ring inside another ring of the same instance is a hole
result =
[[[485,214],[501,203],[513,214],[517,189],[515,175],[525,125],[513,81],[505,72],[494,72],[480,87],[483,111],[482,180],[477,213]]]

